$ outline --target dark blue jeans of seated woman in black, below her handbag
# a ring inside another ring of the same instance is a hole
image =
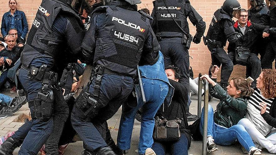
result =
[[[186,134],[181,133],[177,142],[154,142],[151,148],[157,155],[165,155],[166,152],[171,155],[188,155],[188,146]]]

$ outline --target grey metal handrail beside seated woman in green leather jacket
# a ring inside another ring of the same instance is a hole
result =
[[[203,122],[203,142],[202,142],[202,154],[207,154],[207,123],[208,123],[208,97],[209,97],[209,85],[206,78],[200,79],[202,76],[199,73],[198,80],[198,102],[197,102],[197,115],[201,116],[201,96],[202,96],[202,81],[204,83],[204,122]]]

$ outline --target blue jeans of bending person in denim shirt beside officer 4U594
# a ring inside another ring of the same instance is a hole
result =
[[[131,110],[122,112],[117,144],[121,150],[130,149],[131,134],[136,112],[142,107],[142,121],[138,153],[143,154],[146,148],[153,144],[152,132],[154,128],[154,116],[167,96],[169,86],[162,80],[142,78],[146,103],[139,97],[138,105]]]

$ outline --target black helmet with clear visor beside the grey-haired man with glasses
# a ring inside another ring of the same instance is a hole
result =
[[[237,19],[241,17],[241,5],[237,0],[226,0],[222,5],[222,9],[231,17]]]

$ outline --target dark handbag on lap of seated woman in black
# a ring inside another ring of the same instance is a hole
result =
[[[157,117],[155,120],[153,139],[159,142],[177,141],[181,133],[179,127],[182,119],[168,121],[164,117]]]

